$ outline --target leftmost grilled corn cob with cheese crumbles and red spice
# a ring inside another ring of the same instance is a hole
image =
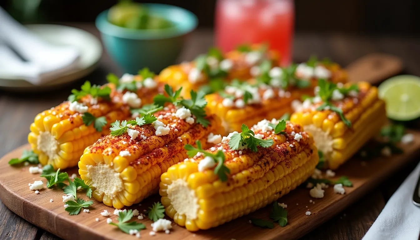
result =
[[[127,78],[143,83],[141,76],[129,74],[125,74],[121,82]],[[39,162],[42,165],[52,164],[55,169],[76,166],[84,148],[107,135],[112,122],[128,118],[131,116],[131,107],[139,108],[140,105],[151,103],[157,93],[163,92],[162,84],[153,79],[148,79],[147,83],[144,87],[137,84],[139,88],[131,93],[127,90],[116,90],[115,84],[106,84],[101,88],[111,89],[110,94],[104,96],[109,100],[93,98],[87,94],[78,101],[65,101],[39,113],[31,124],[28,135],[28,142],[38,154]],[[90,86],[90,83],[87,85]],[[82,90],[87,85],[82,86]],[[82,119],[84,113],[90,113],[96,118],[105,116],[106,124],[102,131],[95,129],[94,124],[86,126]]]

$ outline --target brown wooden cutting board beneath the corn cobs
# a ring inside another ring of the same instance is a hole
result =
[[[274,229],[263,229],[249,224],[250,218],[269,219],[271,205],[219,227],[194,233],[173,224],[173,229],[169,235],[159,232],[156,236],[150,236],[150,224],[152,223],[150,220],[133,218],[133,221],[136,220],[146,225],[147,229],[141,232],[142,239],[297,239],[338,214],[369,190],[372,190],[384,178],[407,164],[414,156],[417,156],[420,148],[420,132],[411,133],[414,134],[415,140],[409,145],[401,145],[404,154],[388,158],[378,157],[369,161],[353,158],[341,166],[336,171],[336,176],[346,175],[354,185],[353,187],[345,187],[346,193],[344,195],[333,193],[333,188],[329,187],[325,189],[324,198],[312,199],[309,195],[309,189],[299,187],[279,199],[279,203],[287,204],[289,223],[286,227],[275,224]],[[8,161],[11,158],[21,156],[24,149],[29,149],[29,145],[24,145],[8,153],[0,160],[0,198],[8,208],[38,227],[68,240],[136,239],[134,236],[125,234],[116,227],[108,225],[106,217],[100,215],[100,212],[104,209],[112,214],[114,208],[94,201],[89,208],[89,213],[81,212],[79,215],[70,216],[64,211],[64,203],[61,197],[63,195],[62,190],[44,188],[39,194],[29,190],[28,183],[33,183],[35,180],[42,180],[44,183],[46,181],[38,174],[30,174],[29,166],[13,167],[8,165]],[[69,174],[76,172],[76,168],[68,169]],[[82,198],[87,199],[86,196]],[[54,201],[50,203],[50,199]],[[315,201],[315,204],[309,202],[311,199]],[[157,195],[144,200],[141,206],[135,204],[130,208],[143,212],[156,201],[160,201]],[[310,211],[311,215],[305,215],[306,211]],[[100,221],[96,222],[96,218],[99,218]],[[117,216],[111,216],[111,218],[116,222]]]

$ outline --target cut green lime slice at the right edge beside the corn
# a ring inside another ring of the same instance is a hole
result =
[[[394,76],[379,87],[379,98],[386,102],[390,119],[408,121],[420,116],[420,77]]]

